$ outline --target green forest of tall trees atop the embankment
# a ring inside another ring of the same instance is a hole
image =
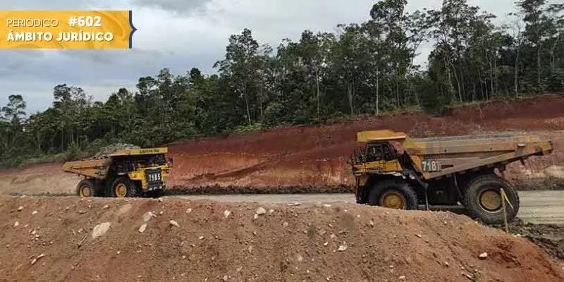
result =
[[[0,102],[0,167],[73,159],[126,142],[141,147],[360,114],[443,109],[564,92],[564,4],[523,0],[493,15],[466,0],[407,13],[378,1],[365,23],[305,30],[299,41],[261,44],[231,35],[215,73],[162,69],[105,102],[80,85],[56,85],[49,109],[26,113],[22,96]],[[417,66],[422,45],[427,65]],[[187,68],[188,69],[188,68]]]

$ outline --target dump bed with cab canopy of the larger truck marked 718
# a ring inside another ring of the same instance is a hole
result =
[[[504,166],[513,161],[550,154],[553,151],[551,141],[522,133],[412,139],[405,133],[377,130],[358,133],[357,140],[399,142],[424,179],[439,178],[484,166]],[[433,167],[427,167],[431,162]]]

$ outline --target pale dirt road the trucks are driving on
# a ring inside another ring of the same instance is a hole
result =
[[[564,224],[564,191],[521,191],[519,217],[525,222]],[[355,202],[352,194],[288,194],[288,195],[191,195],[178,196],[189,200],[221,202],[261,202],[269,204]]]

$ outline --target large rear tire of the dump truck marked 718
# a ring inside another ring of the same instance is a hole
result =
[[[477,176],[468,183],[462,200],[467,214],[486,224],[503,223],[501,188],[509,200],[505,202],[507,220],[512,221],[519,212],[519,195],[507,180],[495,174]]]

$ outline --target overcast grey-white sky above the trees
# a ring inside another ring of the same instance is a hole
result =
[[[408,0],[407,9],[439,8],[442,0]],[[229,35],[250,28],[261,44],[276,47],[283,38],[299,39],[302,30],[335,30],[338,23],[369,18],[374,0],[20,0],[2,1],[3,9],[133,10],[133,49],[1,50],[0,106],[8,95],[22,94],[28,114],[52,102],[57,84],[78,85],[104,101],[119,87],[135,91],[140,76],[161,68],[183,74],[192,67],[213,73]],[[469,0],[502,20],[514,0]],[[418,61],[426,60],[424,47]]]

